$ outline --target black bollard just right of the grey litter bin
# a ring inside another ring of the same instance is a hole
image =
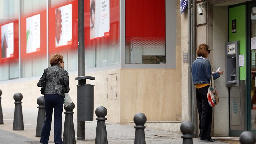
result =
[[[107,108],[100,106],[96,108],[96,120],[97,120],[97,128],[96,128],[96,138],[95,138],[95,144],[108,144],[108,138],[107,138],[107,129],[106,129],[106,122],[107,118]]]

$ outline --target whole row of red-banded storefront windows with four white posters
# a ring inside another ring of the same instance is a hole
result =
[[[57,53],[64,69],[77,70],[78,0],[4,0],[0,6],[0,81],[41,76]],[[85,0],[85,68],[120,63],[119,9],[119,0]]]

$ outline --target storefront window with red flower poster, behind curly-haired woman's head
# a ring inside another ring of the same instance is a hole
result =
[[[49,59],[54,54],[62,54],[64,69],[75,71],[78,48],[78,0],[52,0],[49,4]]]

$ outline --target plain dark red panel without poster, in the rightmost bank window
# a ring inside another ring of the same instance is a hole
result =
[[[126,37],[165,37],[165,0],[126,0]]]

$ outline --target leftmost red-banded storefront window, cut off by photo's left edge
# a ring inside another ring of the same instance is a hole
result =
[[[18,0],[0,1],[0,81],[19,77]]]

